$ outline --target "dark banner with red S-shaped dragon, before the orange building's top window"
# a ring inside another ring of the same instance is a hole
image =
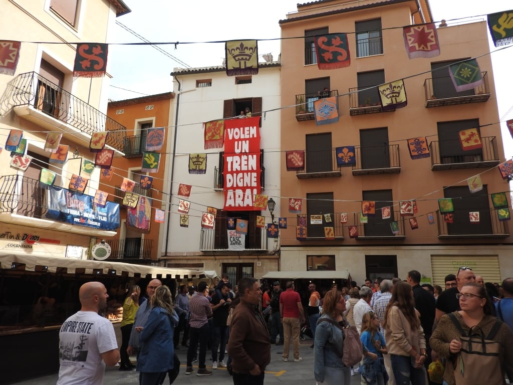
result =
[[[328,33],[315,36],[314,46],[319,69],[337,69],[351,65],[347,34]]]

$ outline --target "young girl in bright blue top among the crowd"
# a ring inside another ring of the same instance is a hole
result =
[[[360,339],[365,350],[360,373],[368,384],[385,385],[388,375],[383,362],[383,354],[387,354],[385,338],[379,332],[380,320],[376,313],[368,312],[362,318],[362,334]]]

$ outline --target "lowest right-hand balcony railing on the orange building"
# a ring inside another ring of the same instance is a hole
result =
[[[443,213],[437,210],[438,238],[507,238],[508,221],[499,221],[497,209],[479,210],[480,222],[470,223],[470,210],[455,210],[453,223],[444,222]],[[477,211],[477,210],[476,210]]]

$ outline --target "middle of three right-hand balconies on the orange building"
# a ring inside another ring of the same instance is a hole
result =
[[[497,166],[499,152],[496,137],[483,137],[481,142],[483,148],[463,151],[458,140],[432,141],[429,143],[431,170]]]

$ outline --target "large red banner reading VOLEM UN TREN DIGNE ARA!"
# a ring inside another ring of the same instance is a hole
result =
[[[262,189],[259,120],[260,117],[225,120],[225,210],[255,210],[254,196]]]

